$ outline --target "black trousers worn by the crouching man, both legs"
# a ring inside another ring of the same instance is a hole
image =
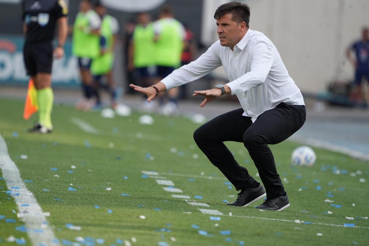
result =
[[[306,119],[305,106],[280,103],[276,108],[259,115],[254,124],[250,117],[242,116],[243,113],[244,110],[239,108],[215,117],[196,129],[194,140],[236,190],[258,184],[223,143],[243,142],[259,171],[267,197],[284,195],[284,187],[268,144],[280,143],[302,127]]]

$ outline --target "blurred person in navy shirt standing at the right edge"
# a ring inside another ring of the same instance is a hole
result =
[[[351,51],[355,52],[356,59],[352,58]],[[368,106],[366,93],[363,91],[363,77],[369,82],[369,28],[362,30],[362,39],[354,42],[346,51],[347,58],[355,67],[354,93],[353,97]]]

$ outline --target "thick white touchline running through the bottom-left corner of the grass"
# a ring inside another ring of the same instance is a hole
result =
[[[11,187],[19,187],[13,198],[17,204],[20,214],[23,214],[21,220],[24,222],[25,227],[28,229],[28,236],[33,245],[60,245],[59,243],[52,242],[55,238],[52,229],[50,228],[46,217],[41,207],[36,201],[34,195],[27,189],[23,180],[20,177],[19,170],[13,160],[8,155],[8,149],[3,137],[0,135],[0,169],[3,178],[6,179],[6,185],[8,190],[12,190]],[[22,204],[29,204],[29,207],[22,207]],[[42,230],[42,233],[39,233]]]

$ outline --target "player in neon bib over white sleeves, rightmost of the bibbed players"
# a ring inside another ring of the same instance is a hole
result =
[[[154,31],[157,82],[160,82],[180,66],[186,32],[183,25],[174,18],[173,11],[168,6],[161,10],[159,20],[154,24]],[[178,112],[179,89],[175,87],[169,90],[167,96],[168,103],[162,107],[161,113],[175,115]],[[163,104],[163,97],[160,101]]]

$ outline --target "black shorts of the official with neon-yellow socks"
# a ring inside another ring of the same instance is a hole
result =
[[[23,59],[27,75],[51,73],[53,51],[54,48],[51,42],[24,44]]]

